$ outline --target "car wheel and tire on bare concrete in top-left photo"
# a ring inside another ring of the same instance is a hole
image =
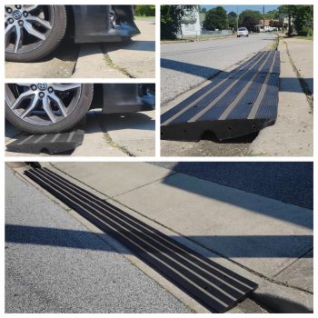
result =
[[[18,11],[15,10],[16,6],[12,6],[13,8],[11,8],[11,10],[13,11],[11,15]],[[28,7],[31,6],[36,7],[34,10],[30,10],[29,13],[24,11],[24,9],[27,10]],[[57,45],[63,40],[67,25],[65,5],[22,5],[20,13],[25,14],[26,12],[27,16],[22,17],[24,20],[22,21],[23,25],[19,28],[20,31],[18,31],[18,25],[16,25],[18,22],[12,17],[11,21],[14,21],[14,23],[11,24],[11,29],[9,28],[10,24],[7,21],[11,15],[7,13],[7,9],[8,6],[5,7],[5,39],[7,39],[5,40],[6,61],[36,61],[54,51]],[[39,16],[43,16],[43,18]],[[37,19],[37,21],[35,21],[35,19]],[[22,34],[21,42],[17,41],[18,32]],[[34,41],[34,43],[32,41]]]

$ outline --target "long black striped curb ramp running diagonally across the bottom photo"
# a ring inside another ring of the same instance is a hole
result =
[[[257,287],[49,169],[25,174],[213,313],[226,312]]]

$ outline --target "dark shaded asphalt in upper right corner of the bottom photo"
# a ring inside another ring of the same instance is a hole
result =
[[[216,184],[313,209],[313,163],[153,163]]]

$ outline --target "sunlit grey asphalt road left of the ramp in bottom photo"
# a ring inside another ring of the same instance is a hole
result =
[[[5,313],[189,309],[6,167]]]

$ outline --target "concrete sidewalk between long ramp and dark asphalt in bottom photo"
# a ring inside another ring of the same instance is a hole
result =
[[[53,166],[259,283],[253,296],[258,303],[277,312],[313,309],[312,210],[152,164]]]

